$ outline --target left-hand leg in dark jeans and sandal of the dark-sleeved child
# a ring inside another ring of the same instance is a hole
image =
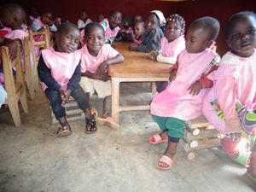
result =
[[[57,137],[65,137],[70,135],[72,133],[71,127],[67,122],[65,108],[61,106],[61,97],[59,92],[49,89],[46,89],[44,92],[49,99],[50,106],[55,114],[55,118],[58,119],[61,124],[61,128],[56,131]]]

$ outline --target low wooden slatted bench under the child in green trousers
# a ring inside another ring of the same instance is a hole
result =
[[[180,142],[188,154],[188,159],[193,160],[196,151],[220,146],[220,137],[221,134],[201,116],[188,122],[185,137]]]

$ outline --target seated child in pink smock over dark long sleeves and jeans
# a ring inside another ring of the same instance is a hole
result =
[[[55,48],[43,49],[38,61],[38,76],[42,82],[45,95],[51,108],[59,120],[61,127],[57,129],[57,137],[71,135],[72,130],[67,122],[65,104],[70,96],[78,102],[85,113],[85,132],[96,131],[96,120],[90,113],[90,104],[79,85],[81,79],[80,31],[72,23],[63,23],[55,33]]]

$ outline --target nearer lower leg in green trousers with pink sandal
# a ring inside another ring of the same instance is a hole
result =
[[[177,143],[180,138],[184,137],[184,128],[186,122],[182,119],[168,118],[166,120],[166,129],[168,134],[168,146],[164,153],[166,158],[171,159],[169,163],[166,163],[162,158],[159,160],[157,166],[161,169],[169,169],[172,167],[172,161],[176,154]]]

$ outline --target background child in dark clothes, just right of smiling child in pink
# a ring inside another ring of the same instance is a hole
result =
[[[132,41],[131,18],[123,15],[121,29],[114,38],[115,41]]]

